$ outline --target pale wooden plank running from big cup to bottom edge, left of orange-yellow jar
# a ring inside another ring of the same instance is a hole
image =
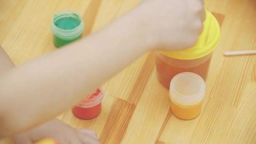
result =
[[[133,117],[128,125],[124,144],[152,144],[155,143],[158,133],[170,109],[168,89],[160,85],[156,70],[149,77],[147,86],[136,106]]]

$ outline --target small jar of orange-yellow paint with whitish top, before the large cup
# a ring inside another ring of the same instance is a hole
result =
[[[195,73],[183,72],[171,80],[171,111],[182,120],[191,120],[200,114],[204,96],[205,82]]]

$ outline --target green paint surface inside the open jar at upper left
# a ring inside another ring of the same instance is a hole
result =
[[[57,21],[54,22],[56,27],[59,27],[60,29],[75,29],[76,27],[79,26],[81,22],[73,17],[64,17],[61,19],[58,19]]]

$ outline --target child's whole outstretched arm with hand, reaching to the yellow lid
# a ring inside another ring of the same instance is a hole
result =
[[[149,50],[192,46],[203,29],[200,1],[145,0],[99,32],[0,75],[0,136],[55,117]]]

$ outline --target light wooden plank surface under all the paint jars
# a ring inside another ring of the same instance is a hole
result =
[[[56,49],[50,23],[57,10],[82,13],[85,36],[139,1],[0,0],[0,44],[19,65]],[[58,118],[96,130],[102,144],[256,144],[256,55],[223,56],[256,50],[256,0],[206,0],[205,8],[221,25],[221,41],[199,117],[179,120],[172,114],[168,89],[157,81],[154,53],[149,52],[103,84],[106,96],[98,117],[80,120],[68,111]]]

